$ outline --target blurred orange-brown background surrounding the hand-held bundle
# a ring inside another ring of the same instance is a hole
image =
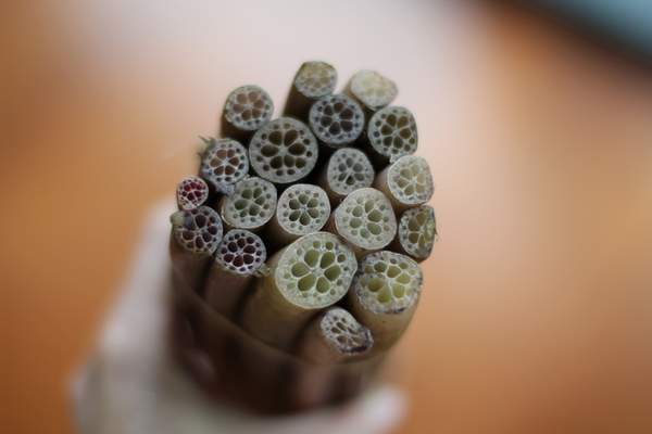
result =
[[[73,430],[142,217],[233,88],[278,110],[317,59],[399,84],[437,183],[397,432],[652,432],[651,40],[552,3],[3,2],[1,431]]]

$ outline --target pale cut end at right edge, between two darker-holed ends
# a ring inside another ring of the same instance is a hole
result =
[[[387,186],[391,194],[405,205],[426,203],[435,191],[428,162],[415,155],[405,155],[392,163]]]

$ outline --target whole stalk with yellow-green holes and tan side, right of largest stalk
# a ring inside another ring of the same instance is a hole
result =
[[[351,312],[372,331],[375,350],[386,350],[401,337],[422,284],[418,264],[405,255],[381,251],[362,260],[348,301]]]

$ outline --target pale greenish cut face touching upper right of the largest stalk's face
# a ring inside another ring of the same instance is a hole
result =
[[[359,189],[349,194],[335,210],[337,232],[364,250],[379,250],[397,233],[391,203],[380,191]]]

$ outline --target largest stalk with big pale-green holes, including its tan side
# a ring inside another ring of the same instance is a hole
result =
[[[336,235],[315,232],[276,253],[268,266],[272,272],[256,281],[242,326],[263,342],[289,349],[317,310],[344,296],[358,261]]]

